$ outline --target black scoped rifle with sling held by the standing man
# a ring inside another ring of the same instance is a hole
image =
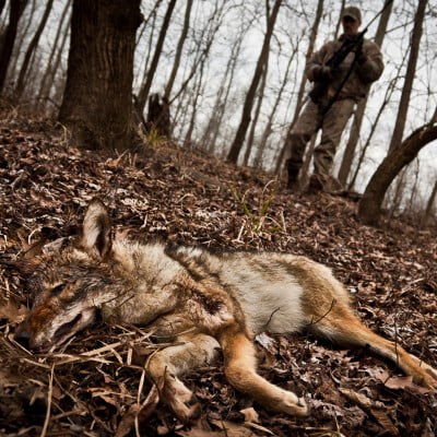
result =
[[[393,0],[387,0],[383,8],[373,17],[373,20],[367,23],[367,26],[359,32],[357,35],[355,35],[353,38],[349,37],[345,38],[341,45],[341,47],[331,56],[331,58],[328,59],[328,61],[326,62],[327,67],[330,67],[330,69],[332,71],[336,70],[340,64],[344,61],[344,59],[346,58],[346,56],[355,50],[359,45],[363,44],[364,42],[364,35],[366,34],[367,29],[370,27],[370,24],[379,16],[382,14],[382,12],[387,9],[387,7],[392,2]],[[352,72],[352,68],[355,64],[355,60],[356,60],[356,56],[354,59],[353,64],[351,66],[350,71],[347,72],[347,76],[345,78],[345,80],[341,83],[339,90],[336,90],[335,92],[335,98],[333,101],[336,99],[336,97],[339,96],[344,82],[347,80],[347,78],[350,76],[351,72]],[[323,95],[326,94],[328,86],[329,86],[330,80],[326,79],[322,81],[317,81],[312,87],[312,90],[309,92],[309,97],[311,98],[311,101],[316,104],[319,104],[321,102],[321,98],[323,97]],[[330,104],[328,106],[332,106],[333,102],[330,102]],[[327,105],[324,105],[327,106]],[[329,107],[328,107],[329,109]],[[327,110],[324,110],[324,113],[327,113]]]

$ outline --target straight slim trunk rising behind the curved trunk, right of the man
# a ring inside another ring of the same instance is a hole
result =
[[[428,0],[420,0],[417,5],[416,15],[414,17],[414,27],[411,36],[411,48],[409,64],[406,67],[405,82],[402,88],[401,102],[399,103],[398,116],[394,121],[394,130],[391,137],[389,150],[395,147],[402,141],[403,131],[405,128],[406,114],[410,106],[410,95],[413,88],[413,81],[416,71],[418,49],[423,33],[423,21],[425,16],[425,9]]]

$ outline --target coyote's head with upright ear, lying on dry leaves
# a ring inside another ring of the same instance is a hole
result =
[[[82,231],[72,243],[43,256],[29,279],[35,296],[15,339],[45,351],[94,322],[98,308],[122,290],[111,262],[110,220],[105,205],[88,205]]]

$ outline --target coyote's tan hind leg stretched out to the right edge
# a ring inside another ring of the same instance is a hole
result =
[[[363,324],[343,305],[333,307],[324,318],[314,323],[310,330],[344,346],[369,346],[374,353],[391,359],[416,383],[437,390],[437,370],[409,354],[399,344],[383,339]]]

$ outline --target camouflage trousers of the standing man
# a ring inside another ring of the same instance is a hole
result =
[[[311,137],[321,127],[321,140],[314,151],[314,174],[324,186],[330,176],[335,151],[341,134],[355,106],[355,101],[344,98],[335,102],[321,120],[320,107],[309,101],[300,114],[296,125],[287,138],[288,178],[297,179],[297,174],[304,163],[305,147]]]

